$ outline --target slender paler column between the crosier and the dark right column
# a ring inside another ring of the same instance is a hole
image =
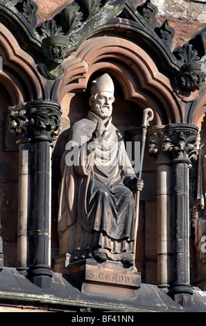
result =
[[[157,284],[165,293],[173,283],[173,180],[171,153],[164,151],[164,127],[148,129],[149,151],[157,157]],[[163,146],[163,147],[162,147]]]

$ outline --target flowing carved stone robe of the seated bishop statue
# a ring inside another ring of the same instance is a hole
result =
[[[97,121],[101,122],[101,132],[105,130],[105,138],[95,150],[88,151],[87,141]],[[74,123],[62,155],[61,172],[59,255],[69,253],[70,261],[75,261],[103,252],[114,261],[132,259],[135,200],[126,184],[135,173],[112,117],[104,124],[89,111],[87,118]]]

